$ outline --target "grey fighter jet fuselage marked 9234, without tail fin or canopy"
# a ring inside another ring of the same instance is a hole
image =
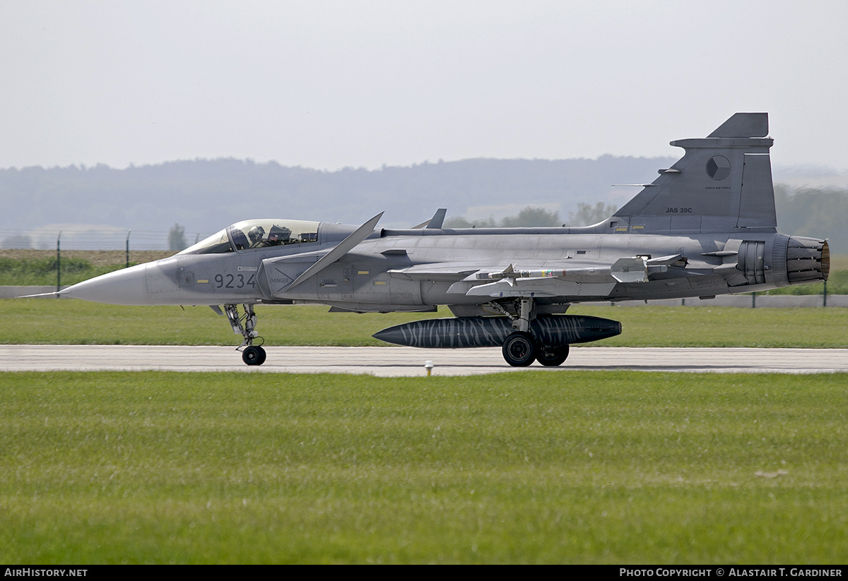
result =
[[[824,241],[769,232],[599,234],[590,231],[594,227],[377,230],[314,277],[288,288],[356,228],[315,224],[318,235],[314,241],[257,248],[233,245],[224,252],[189,250],[83,282],[71,287],[67,295],[128,305],[301,302],[360,311],[413,311],[433,305],[491,302],[498,297],[469,294],[483,282],[468,280],[468,274],[500,271],[511,265],[516,270],[564,271],[559,286],[534,296],[539,305],[554,305],[768,290],[826,278],[829,261]],[[793,260],[799,261],[789,257],[790,243],[809,258],[803,268],[795,268],[795,279],[789,274]],[[620,257],[674,255],[685,262],[651,273],[645,281],[619,282],[602,269],[594,277],[585,274],[593,265],[614,263]],[[745,263],[747,255],[750,260]],[[566,285],[572,270],[583,276]],[[798,272],[806,274],[799,276]]]

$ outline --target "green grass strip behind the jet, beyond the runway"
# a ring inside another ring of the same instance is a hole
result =
[[[371,335],[438,313],[327,313],[327,307],[262,306],[269,345],[385,346]],[[612,318],[622,334],[593,346],[848,347],[848,309],[591,307],[570,314]],[[238,345],[226,318],[209,307],[120,307],[56,299],[0,300],[0,343],[53,345]]]

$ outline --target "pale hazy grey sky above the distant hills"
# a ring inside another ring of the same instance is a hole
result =
[[[0,0],[0,168],[677,155],[848,169],[848,2]]]

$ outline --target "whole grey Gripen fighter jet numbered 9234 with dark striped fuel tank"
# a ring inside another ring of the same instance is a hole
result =
[[[778,234],[767,113],[736,113],[709,136],[672,141],[683,158],[609,219],[580,228],[443,228],[444,208],[410,230],[258,219],[174,257],[59,291],[120,305],[208,305],[265,362],[254,305],[455,318],[383,329],[418,347],[502,347],[506,362],[560,365],[572,343],[621,332],[574,303],[711,298],[828,278],[828,243]],[[239,311],[237,305],[243,305]],[[221,309],[223,306],[223,310]]]

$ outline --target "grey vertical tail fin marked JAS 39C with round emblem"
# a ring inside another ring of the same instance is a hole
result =
[[[609,220],[645,234],[776,231],[768,113],[736,113],[709,136],[672,141],[685,154]]]

